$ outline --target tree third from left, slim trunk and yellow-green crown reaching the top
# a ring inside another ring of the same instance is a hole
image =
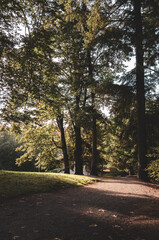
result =
[[[92,116],[91,124],[93,134],[91,173],[97,175],[96,115],[98,115],[97,108],[99,107],[96,97],[99,96],[97,89],[103,79],[105,79],[105,81],[110,80],[109,72],[112,72],[111,68],[118,53],[120,57],[123,57],[120,40],[119,51],[117,51],[117,47],[115,46],[115,44],[118,45],[117,42],[114,42],[114,39],[116,39],[115,35],[120,35],[121,33],[113,24],[111,25],[109,15],[105,15],[103,11],[101,1],[94,1],[91,5],[89,1],[64,1],[64,3],[68,21],[74,21],[76,23],[76,28],[83,36],[84,51],[87,53],[87,96],[84,105],[91,108],[90,114]],[[108,10],[109,5],[107,5],[106,8]],[[113,33],[113,31],[115,33]],[[117,65],[113,67],[116,68]]]

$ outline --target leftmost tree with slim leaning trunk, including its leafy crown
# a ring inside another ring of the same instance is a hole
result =
[[[31,2],[29,1],[28,4],[31,4]],[[55,35],[49,32],[49,25],[45,28],[42,25],[45,23],[43,17],[47,14],[49,5],[48,3],[42,4],[42,6],[40,4],[40,10],[36,11],[37,6],[39,6],[38,2],[35,2],[32,6],[33,11],[26,13],[30,16],[28,21],[31,21],[29,35],[23,37],[23,44],[18,49],[12,50],[5,63],[3,79],[7,83],[8,103],[5,103],[3,117],[8,121],[36,122],[42,103],[43,107],[47,103],[47,109],[54,106],[56,109],[54,114],[56,112],[57,119],[61,115],[60,105],[57,101],[54,104],[55,98],[60,99],[61,97],[56,84],[60,64],[52,61],[54,49],[51,48],[51,43]],[[57,5],[54,8],[57,9]],[[43,14],[40,18],[41,12]],[[36,27],[39,27],[39,29],[36,29]],[[44,44],[42,45],[42,43]],[[35,104],[37,104],[37,108],[35,108]],[[50,108],[51,110],[52,108]],[[63,144],[65,136],[61,120],[58,121],[58,126],[61,131],[62,150],[64,159],[66,158],[66,172],[68,173],[67,149],[66,144]]]

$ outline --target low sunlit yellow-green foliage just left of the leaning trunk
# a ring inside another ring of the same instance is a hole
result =
[[[26,125],[22,129],[21,144],[16,150],[23,155],[16,159],[20,166],[26,161],[32,161],[41,170],[51,170],[63,166],[62,150],[57,148],[54,141],[60,145],[58,129],[53,124],[43,126]]]

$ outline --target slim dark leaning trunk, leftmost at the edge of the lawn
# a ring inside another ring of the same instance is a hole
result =
[[[69,167],[69,159],[67,154],[67,146],[66,146],[66,139],[65,139],[65,132],[63,127],[63,117],[60,116],[57,118],[57,124],[60,129],[61,133],[61,145],[62,145],[62,152],[64,157],[64,166],[65,166],[65,173],[70,173],[70,167]]]

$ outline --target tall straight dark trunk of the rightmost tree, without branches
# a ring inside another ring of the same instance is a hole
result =
[[[136,34],[136,87],[137,87],[137,123],[138,123],[138,177],[147,180],[146,161],[146,123],[145,90],[142,45],[141,0],[134,0]]]

